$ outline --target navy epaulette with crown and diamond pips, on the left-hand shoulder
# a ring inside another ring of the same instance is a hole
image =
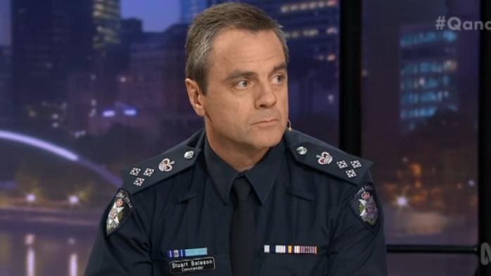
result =
[[[129,194],[135,194],[151,185],[166,180],[177,173],[190,168],[198,159],[200,149],[190,146],[178,146],[160,156],[136,163],[120,170],[123,187]]]

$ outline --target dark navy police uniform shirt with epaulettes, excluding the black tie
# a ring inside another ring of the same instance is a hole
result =
[[[293,130],[239,173],[200,130],[121,171],[85,275],[230,276],[231,184],[240,174],[253,187],[255,275],[388,275],[370,166]]]

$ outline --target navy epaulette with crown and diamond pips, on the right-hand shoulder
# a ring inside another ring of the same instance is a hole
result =
[[[356,185],[362,183],[372,164],[336,148],[312,142],[295,144],[290,149],[296,161]]]

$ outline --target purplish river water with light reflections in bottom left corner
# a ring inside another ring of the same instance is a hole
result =
[[[0,276],[83,275],[93,233],[70,234],[0,232]]]

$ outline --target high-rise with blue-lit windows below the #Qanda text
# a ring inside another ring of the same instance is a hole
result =
[[[466,99],[476,96],[478,33],[436,30],[434,21],[403,25],[400,33],[400,132],[405,134],[440,110],[461,111]]]

